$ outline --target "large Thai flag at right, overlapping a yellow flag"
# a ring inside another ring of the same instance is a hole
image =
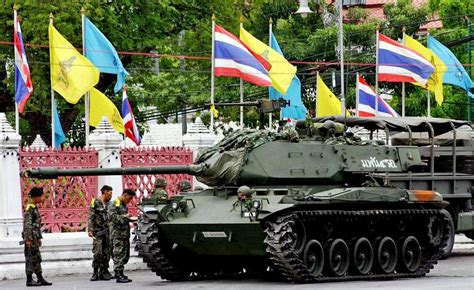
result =
[[[426,85],[434,71],[426,58],[383,34],[379,35],[378,66],[378,79],[385,82]]]

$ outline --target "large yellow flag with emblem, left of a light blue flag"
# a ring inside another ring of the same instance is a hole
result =
[[[76,104],[99,82],[99,70],[49,24],[51,86],[66,101]]]

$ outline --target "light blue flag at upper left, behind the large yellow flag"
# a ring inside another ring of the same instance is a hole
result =
[[[114,91],[117,93],[125,85],[128,72],[122,65],[117,51],[105,35],[85,17],[85,56],[103,73],[116,74]]]

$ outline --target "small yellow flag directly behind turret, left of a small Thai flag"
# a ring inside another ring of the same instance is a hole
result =
[[[319,74],[316,86],[316,117],[340,115],[341,101],[326,86]]]

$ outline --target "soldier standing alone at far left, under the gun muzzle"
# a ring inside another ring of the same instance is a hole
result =
[[[53,283],[43,278],[41,270],[41,216],[38,204],[43,196],[43,188],[34,187],[30,190],[26,204],[25,221],[23,224],[23,239],[25,241],[26,286],[50,286]],[[38,281],[33,280],[33,273]]]

